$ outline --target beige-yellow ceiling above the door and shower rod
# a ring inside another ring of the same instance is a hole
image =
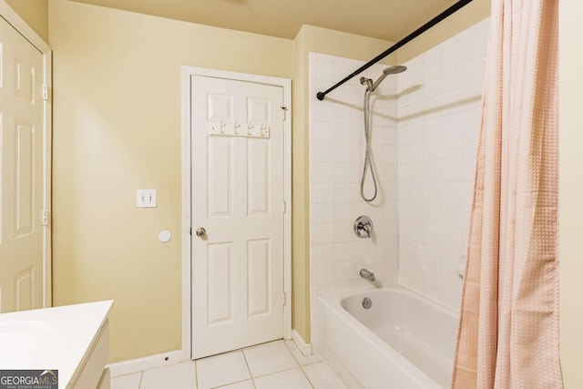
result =
[[[292,39],[302,25],[398,41],[455,0],[72,0]]]

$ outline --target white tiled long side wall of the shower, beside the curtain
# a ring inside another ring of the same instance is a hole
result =
[[[459,310],[489,19],[398,76],[399,282]]]

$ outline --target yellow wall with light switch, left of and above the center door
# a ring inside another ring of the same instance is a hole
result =
[[[116,301],[111,362],[180,349],[180,67],[291,78],[292,41],[65,0],[49,16],[54,302]]]

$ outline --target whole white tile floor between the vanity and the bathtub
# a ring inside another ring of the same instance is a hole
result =
[[[292,341],[261,344],[187,363],[123,375],[111,389],[343,389],[317,355]]]

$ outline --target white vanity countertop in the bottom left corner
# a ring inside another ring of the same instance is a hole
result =
[[[97,341],[113,301],[0,314],[0,369],[58,370],[65,388]]]

